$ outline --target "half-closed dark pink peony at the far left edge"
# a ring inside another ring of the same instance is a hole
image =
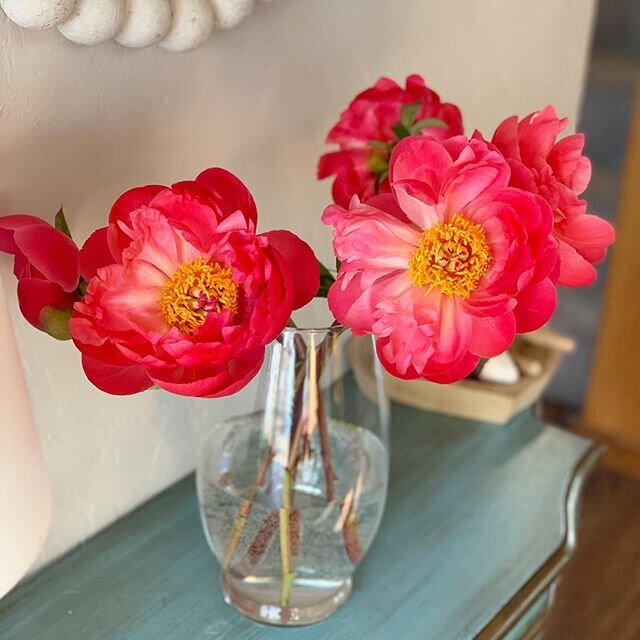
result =
[[[35,216],[0,217],[0,251],[14,258],[24,317],[54,338],[69,339],[69,318],[80,299],[79,251],[73,240]]]

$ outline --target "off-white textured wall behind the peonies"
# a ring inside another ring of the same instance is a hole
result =
[[[548,101],[574,118],[593,5],[277,0],[182,55],[83,49],[0,20],[0,211],[52,215],[62,202],[82,240],[125,188],[223,165],[253,190],[262,229],[286,225],[328,256],[315,164],[357,90],[417,71],[469,131]],[[9,298],[54,490],[46,561],[187,473],[191,427],[239,400],[102,395],[72,345],[27,326]]]

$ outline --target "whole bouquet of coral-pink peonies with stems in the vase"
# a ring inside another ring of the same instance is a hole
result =
[[[342,113],[327,138],[338,149],[318,165],[319,178],[334,177],[322,220],[333,228],[335,278],[293,233],[258,233],[249,190],[220,168],[127,191],[81,247],[62,211],[54,226],[31,215],[0,217],[0,250],[14,256],[26,320],[72,339],[87,378],[110,394],[234,394],[256,376],[266,347],[283,339],[292,312],[316,296],[328,298],[341,330],[374,337],[392,375],[455,382],[516,334],[547,323],[558,285],[594,282],[594,265],[614,241],[611,225],[580,198],[591,167],[581,134],[559,137],[566,126],[548,106],[507,118],[490,138],[467,137],[460,109],[421,77],[404,88],[380,79]],[[309,345],[296,348],[302,361]],[[331,348],[312,346],[316,382]],[[303,373],[292,376],[296,398]],[[324,499],[338,500],[322,394],[309,406],[313,416],[294,412],[278,462],[281,506],[249,546],[255,566],[280,531],[283,606],[300,546],[292,484],[313,454],[314,433]],[[264,452],[237,511],[225,567],[246,537],[275,453]],[[338,528],[356,564],[357,492],[348,495],[338,500]]]

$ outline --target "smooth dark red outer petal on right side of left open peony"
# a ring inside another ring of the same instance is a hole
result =
[[[289,267],[293,283],[293,308],[304,307],[318,292],[320,270],[313,249],[290,231],[269,231],[262,236],[268,238],[272,246]]]

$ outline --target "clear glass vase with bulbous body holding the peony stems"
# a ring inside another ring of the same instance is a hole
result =
[[[286,329],[256,406],[201,439],[200,511],[225,597],[260,622],[335,611],[382,518],[388,402],[373,342],[363,357],[352,340],[339,326]]]

